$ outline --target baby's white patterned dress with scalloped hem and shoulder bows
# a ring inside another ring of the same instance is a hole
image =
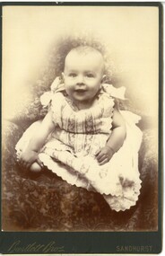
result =
[[[138,151],[142,131],[135,123],[139,116],[120,111],[126,121],[126,139],[110,159],[99,165],[94,154],[105,146],[112,130],[114,98],[124,99],[125,89],[102,84],[97,104],[88,110],[76,110],[64,92],[51,93],[55,130],[39,152],[39,159],[69,184],[95,190],[109,206],[124,211],[135,206],[141,189]],[[28,128],[16,145],[17,154],[27,146],[35,125]]]

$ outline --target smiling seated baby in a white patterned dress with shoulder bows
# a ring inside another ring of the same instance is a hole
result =
[[[141,188],[139,117],[117,110],[125,88],[103,84],[104,59],[80,46],[65,57],[62,79],[51,86],[48,114],[26,130],[16,146],[18,161],[32,172],[44,165],[65,181],[96,190],[115,210],[135,205]]]

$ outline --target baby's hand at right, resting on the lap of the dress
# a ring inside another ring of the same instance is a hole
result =
[[[114,154],[113,149],[110,146],[104,146],[100,148],[96,153],[96,159],[98,160],[100,165],[108,163]]]

